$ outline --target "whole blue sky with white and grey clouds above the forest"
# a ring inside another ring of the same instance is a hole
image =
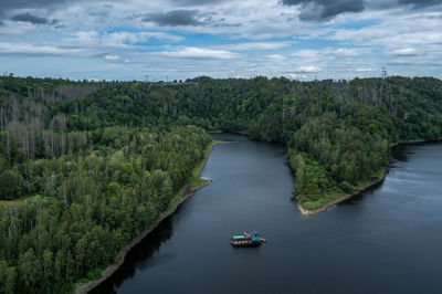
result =
[[[442,0],[0,0],[0,73],[442,78]]]

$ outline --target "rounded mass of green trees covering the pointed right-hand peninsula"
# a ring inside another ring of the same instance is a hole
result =
[[[349,193],[359,182],[372,180],[372,174],[387,164],[388,146],[379,132],[364,133],[335,114],[303,125],[288,144],[299,202],[324,204],[325,195]]]

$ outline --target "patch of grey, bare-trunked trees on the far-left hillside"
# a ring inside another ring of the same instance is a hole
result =
[[[66,115],[53,114],[55,103],[78,99],[103,83],[0,76],[0,151],[10,162],[45,153],[66,154],[83,145],[83,136],[66,134]]]

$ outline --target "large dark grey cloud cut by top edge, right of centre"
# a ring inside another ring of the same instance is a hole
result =
[[[283,0],[285,6],[301,6],[302,21],[324,21],[345,12],[361,12],[364,0]]]

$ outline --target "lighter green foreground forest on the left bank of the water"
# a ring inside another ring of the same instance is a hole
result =
[[[168,209],[211,140],[192,126],[110,127],[86,137],[80,153],[3,171],[27,179],[1,185],[33,197],[0,206],[1,293],[65,293],[96,277]]]

